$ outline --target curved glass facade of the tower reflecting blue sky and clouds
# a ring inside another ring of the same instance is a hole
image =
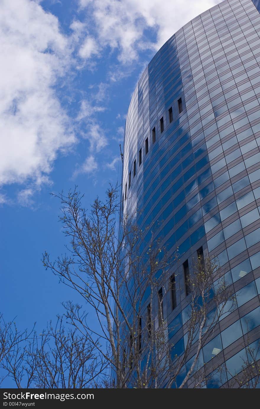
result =
[[[217,256],[233,286],[237,308],[201,357],[217,348],[230,373],[208,387],[239,371],[248,332],[260,337],[259,10],[259,0],[226,0],[177,31],[143,72],[125,126],[121,216],[147,229],[141,254],[151,231],[170,254],[179,247],[175,305],[163,304],[179,353],[194,254]]]

